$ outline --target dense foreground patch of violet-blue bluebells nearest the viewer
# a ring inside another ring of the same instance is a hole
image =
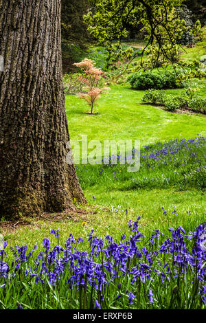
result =
[[[130,308],[144,308],[147,304],[159,308],[159,295],[165,299],[169,295],[173,301],[176,295],[179,299],[181,285],[187,289],[185,293],[192,295],[191,302],[186,304],[183,300],[184,307],[205,308],[205,223],[189,233],[181,226],[169,227],[168,236],[157,229],[148,239],[139,231],[140,220],[140,217],[130,220],[128,232],[121,234],[119,241],[111,235],[104,239],[97,237],[91,230],[87,251],[80,249],[83,239],[76,239],[72,234],[64,246],[58,241],[52,247],[52,241],[44,238],[40,252],[37,245],[32,252],[27,250],[27,245],[10,247],[9,257],[5,242],[0,250],[0,293],[9,293],[10,284],[17,286],[19,280],[25,284],[33,281],[32,288],[42,285],[46,290],[49,283],[58,291],[59,286],[64,286],[71,301],[78,293],[78,300],[82,298],[80,304],[86,300],[85,308],[105,309],[108,302],[113,302],[115,307],[126,304]],[[59,239],[59,231],[50,233]],[[165,308],[171,306],[164,304]]]

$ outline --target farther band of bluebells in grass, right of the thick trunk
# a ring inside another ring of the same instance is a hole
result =
[[[152,144],[150,146],[143,146],[140,152],[140,178],[137,174],[132,179],[133,184],[137,186],[146,185],[147,183],[176,183],[176,185],[183,186],[183,178],[190,173],[190,176],[198,176],[201,172],[205,172],[205,161],[201,157],[201,149],[206,144],[206,139],[198,135],[192,139],[176,139],[169,140],[164,143]],[[81,184],[88,185],[88,182],[95,183],[100,179],[105,180],[106,176],[111,176],[113,179],[118,180],[123,178],[130,178],[130,173],[127,172],[128,164],[133,164],[135,160],[135,148],[129,155],[122,156],[109,155],[102,159],[101,166],[95,166],[96,172],[92,168],[90,172],[85,172],[84,166],[76,166],[76,171]],[[87,166],[88,169],[90,166]],[[115,168],[116,167],[116,168]],[[120,167],[120,168],[119,168]],[[106,169],[111,172],[105,173]],[[87,169],[87,170],[88,170]],[[148,172],[144,172],[149,170]],[[162,173],[159,174],[159,171]],[[104,173],[104,177],[102,174]],[[127,173],[127,176],[126,174]],[[187,176],[185,177],[185,180]],[[192,180],[192,179],[188,179]]]

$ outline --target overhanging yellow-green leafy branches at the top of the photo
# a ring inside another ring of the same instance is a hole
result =
[[[106,45],[110,56],[119,53],[121,40],[128,36],[128,23],[143,25],[150,50],[150,67],[178,61],[178,43],[190,27],[179,16],[184,0],[91,0],[95,10],[84,15],[89,32]],[[191,30],[190,30],[191,31]],[[119,40],[113,45],[114,40]],[[144,54],[144,51],[143,51]],[[142,55],[143,57],[143,55]],[[141,66],[145,63],[141,59]]]

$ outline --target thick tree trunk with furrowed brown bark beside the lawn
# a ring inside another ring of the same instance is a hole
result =
[[[86,202],[66,155],[60,0],[0,0],[0,217]]]

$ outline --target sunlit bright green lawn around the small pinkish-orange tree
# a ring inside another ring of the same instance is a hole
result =
[[[168,93],[181,91],[168,90]],[[89,106],[78,96],[66,96],[71,140],[80,140],[81,135],[88,135],[88,141],[132,139],[140,140],[141,146],[144,146],[171,138],[206,134],[205,115],[163,111],[141,104],[143,96],[144,91],[132,90],[129,85],[113,85],[98,101],[94,111],[98,112],[97,115],[87,115]]]

